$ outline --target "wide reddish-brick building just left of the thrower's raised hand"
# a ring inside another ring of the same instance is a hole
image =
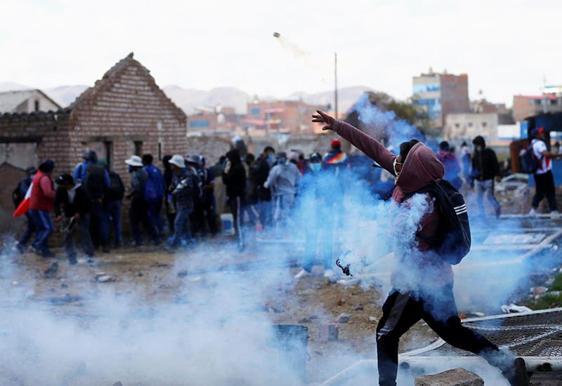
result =
[[[317,109],[325,109],[325,105],[308,105],[301,100],[254,100],[248,104],[241,124],[249,135],[313,134],[318,132],[318,125],[311,122],[311,115]]]

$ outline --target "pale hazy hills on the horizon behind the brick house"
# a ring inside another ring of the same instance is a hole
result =
[[[67,107],[89,86],[58,86],[53,88],[45,88],[41,91],[46,93],[49,98],[53,99],[62,107]],[[13,82],[0,83],[0,92],[27,90],[33,88]],[[194,90],[191,88],[181,88],[179,86],[165,86],[162,88],[164,93],[174,101],[174,103],[183,109],[185,114],[193,114],[197,107],[216,107],[218,105],[226,107],[234,107],[238,114],[246,114],[247,104],[256,98],[256,95],[245,93],[237,88],[218,87],[209,91]],[[346,112],[365,91],[372,91],[372,88],[366,86],[346,87],[338,90],[338,110],[340,113]],[[334,91],[325,91],[322,93],[303,93],[296,92],[286,98],[276,98],[271,95],[257,95],[260,100],[303,100],[311,105],[330,105],[332,111],[334,109]]]

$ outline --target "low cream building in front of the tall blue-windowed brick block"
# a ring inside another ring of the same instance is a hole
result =
[[[499,114],[495,112],[447,114],[443,127],[443,139],[466,140],[470,143],[476,135],[482,135],[486,142],[497,141]]]

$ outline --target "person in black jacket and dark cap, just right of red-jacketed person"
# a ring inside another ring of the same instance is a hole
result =
[[[80,242],[84,253],[93,258],[93,243],[90,235],[90,211],[92,202],[86,188],[72,175],[61,174],[56,179],[58,185],[55,195],[55,219],[63,222],[65,249],[70,265],[77,263],[74,251],[74,227],[80,232]]]

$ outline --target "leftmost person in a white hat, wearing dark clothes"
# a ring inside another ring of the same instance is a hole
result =
[[[134,246],[143,245],[143,237],[141,235],[141,223],[148,233],[152,242],[158,243],[158,234],[155,227],[151,227],[148,220],[148,211],[145,204],[145,187],[148,180],[148,173],[143,169],[143,160],[137,155],[129,157],[125,160],[125,164],[129,165],[129,173],[131,173],[131,187],[129,192],[125,194],[126,199],[131,200],[129,208],[129,219],[131,221],[131,234],[133,236]]]

